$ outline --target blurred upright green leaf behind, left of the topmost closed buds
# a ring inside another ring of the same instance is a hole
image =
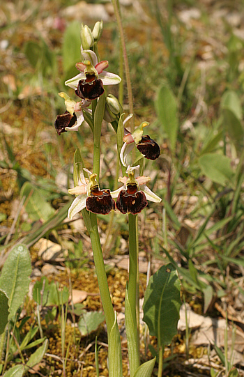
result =
[[[67,27],[63,36],[63,70],[67,72],[75,63],[81,61],[79,32],[81,24],[73,21]]]

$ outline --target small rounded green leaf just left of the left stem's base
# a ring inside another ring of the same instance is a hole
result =
[[[91,334],[96,331],[98,326],[105,320],[101,311],[87,311],[79,318],[78,328],[82,336]]]

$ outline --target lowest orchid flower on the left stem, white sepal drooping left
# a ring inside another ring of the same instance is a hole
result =
[[[91,173],[88,169],[84,168],[83,170],[89,175],[89,179],[84,177],[83,171],[79,171],[78,185],[68,190],[69,194],[77,195],[68,210],[70,220],[84,208],[102,215],[107,215],[115,209],[110,190],[100,190],[96,180],[97,175]]]

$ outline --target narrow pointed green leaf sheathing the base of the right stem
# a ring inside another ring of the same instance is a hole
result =
[[[128,344],[130,374],[131,376],[134,376],[135,371],[139,366],[139,360],[137,357],[137,331],[133,321],[127,286],[125,291],[125,331]]]

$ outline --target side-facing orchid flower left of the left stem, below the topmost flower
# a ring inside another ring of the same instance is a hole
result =
[[[77,131],[79,126],[84,122],[84,115],[82,109],[90,112],[87,107],[91,104],[91,101],[82,100],[75,102],[71,100],[64,92],[59,93],[61,98],[64,98],[66,105],[66,112],[56,117],[54,123],[56,132],[60,135],[66,131]]]

